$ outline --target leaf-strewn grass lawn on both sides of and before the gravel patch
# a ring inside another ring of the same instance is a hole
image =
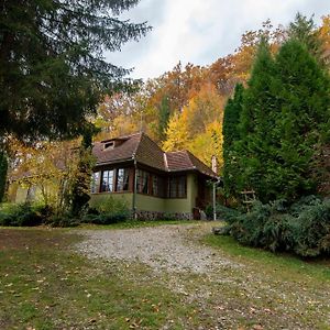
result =
[[[187,239],[240,267],[160,274],[87,260],[72,249],[82,239],[76,229],[0,229],[0,329],[330,329],[328,261],[200,232],[196,223]]]

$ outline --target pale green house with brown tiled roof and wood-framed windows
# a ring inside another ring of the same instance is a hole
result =
[[[95,143],[90,205],[120,198],[135,218],[198,218],[217,174],[188,151],[164,152],[144,133]]]

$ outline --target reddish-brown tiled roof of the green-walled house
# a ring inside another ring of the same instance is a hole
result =
[[[113,148],[105,148],[105,143],[120,141]],[[136,160],[138,163],[164,172],[198,170],[207,176],[217,177],[207,165],[188,151],[168,152],[163,150],[144,133],[121,136],[103,142],[97,142],[92,148],[97,165],[113,164],[122,161]]]

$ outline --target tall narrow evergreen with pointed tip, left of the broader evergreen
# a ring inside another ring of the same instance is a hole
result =
[[[272,162],[276,101],[274,97],[275,63],[268,44],[262,40],[244,92],[239,131],[241,139],[235,143],[240,174],[238,188],[253,189],[261,200],[272,194],[266,183],[267,164]]]

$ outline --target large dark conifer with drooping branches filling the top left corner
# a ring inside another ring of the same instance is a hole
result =
[[[129,72],[107,63],[103,52],[148,30],[119,19],[138,2],[1,1],[0,138],[81,133],[103,92],[123,88]]]

